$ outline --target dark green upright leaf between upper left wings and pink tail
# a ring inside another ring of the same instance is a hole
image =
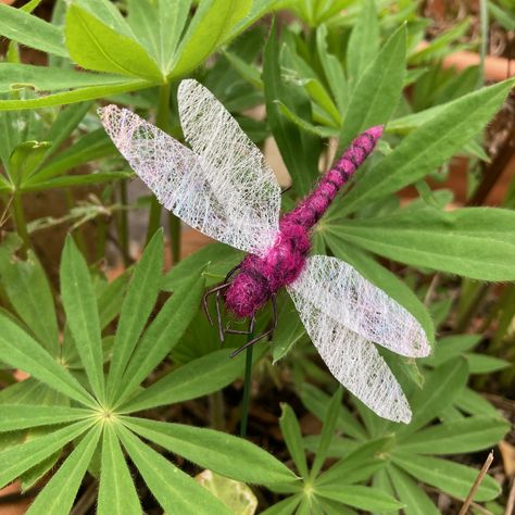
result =
[[[285,117],[277,105],[280,100],[290,111],[303,120],[311,120],[311,102],[298,88],[287,87],[281,79],[279,41],[275,23],[265,46],[263,81],[268,125],[277,141],[280,154],[293,178],[293,188],[306,194],[318,174],[319,139],[305,134]]]

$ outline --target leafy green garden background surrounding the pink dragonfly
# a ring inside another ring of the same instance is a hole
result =
[[[451,514],[499,445],[472,508],[511,513],[512,3],[7,3],[0,477],[1,486],[21,478],[21,492],[1,503],[22,500],[24,510],[42,490],[33,513],[92,513],[98,494],[101,513],[160,513],[156,503],[253,513],[259,503],[267,514]],[[181,139],[176,90],[188,76],[291,185],[285,209],[357,133],[386,124],[313,242],[402,303],[435,342],[418,366],[384,352],[411,425],[342,400],[285,296],[275,337],[254,355],[248,430],[276,459],[221,432],[238,434],[243,364],[218,350],[198,306],[241,255],[162,213],[96,114],[124,104]],[[75,243],[64,244],[67,233]],[[203,468],[215,474],[190,480]]]

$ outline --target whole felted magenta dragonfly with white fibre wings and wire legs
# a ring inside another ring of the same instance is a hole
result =
[[[227,332],[246,332],[223,327],[221,299],[237,317],[250,318],[249,334],[258,310],[272,302],[272,328],[233,355],[272,335],[276,294],[286,287],[336,379],[378,415],[409,423],[406,398],[373,342],[405,356],[425,356],[430,347],[424,329],[348,263],[309,256],[310,230],[372,153],[382,127],[354,139],[313,191],[279,217],[281,189],[274,173],[211,91],[196,80],[183,80],[178,109],[191,149],[125,109],[108,105],[99,113],[115,146],[159,202],[204,235],[248,252],[204,297],[208,307],[208,296],[216,296],[221,339]]]

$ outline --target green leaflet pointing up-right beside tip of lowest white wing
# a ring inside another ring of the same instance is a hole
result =
[[[468,367],[462,357],[451,360],[435,370],[427,373],[424,389],[415,392],[410,404],[413,411],[412,422],[397,430],[400,444],[417,429],[432,420],[447,406],[452,404],[468,379]]]

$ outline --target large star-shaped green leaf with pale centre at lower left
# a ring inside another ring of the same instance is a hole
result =
[[[140,437],[237,480],[267,485],[296,481],[294,475],[285,465],[244,440],[210,429],[128,416],[145,406],[169,404],[218,390],[234,381],[242,370],[241,357],[230,361],[227,351],[219,351],[214,353],[224,354],[223,363],[222,356],[218,359],[219,370],[216,365],[213,366],[217,359],[206,355],[165,374],[147,388],[139,386],[177,343],[196,313],[193,306],[198,305],[203,290],[202,279],[193,276],[149,323],[161,284],[162,252],[162,235],[159,233],[135,266],[125,300],[120,306],[120,323],[106,380],[108,386],[113,386],[108,397],[102,357],[102,338],[105,335],[102,335],[100,323],[106,318],[105,311],[99,311],[101,303],[91,276],[73,240],[68,238],[66,241],[61,264],[61,293],[65,327],[70,331],[64,346],[55,348],[47,342],[47,331],[38,331],[35,339],[24,329],[25,319],[30,321],[33,300],[24,296],[24,288],[29,291],[29,285],[21,284],[17,291],[10,292],[13,298],[18,297],[16,311],[22,319],[0,313],[0,360],[10,367],[27,372],[45,385],[43,388],[62,393],[65,404],[50,402],[42,405],[28,391],[25,395],[21,394],[21,390],[32,388],[32,381],[1,392],[1,398],[9,399],[10,390],[17,389],[11,398],[14,402],[1,405],[1,411],[10,415],[2,416],[0,431],[16,431],[21,441],[0,451],[4,465],[0,483],[7,485],[61,451],[68,442],[75,442],[74,450],[32,505],[33,513],[68,513],[83,477],[91,465],[99,439],[102,442],[100,513],[113,513],[116,506],[124,506],[130,513],[140,511],[121,445],[128,452],[163,508],[173,511],[179,506],[188,513],[212,513],[211,507],[218,506],[219,513],[229,513],[208,490],[143,443]],[[13,273],[12,267],[16,267],[18,274],[26,268],[32,275],[41,274],[37,262],[17,261],[13,264],[7,250],[1,258],[2,271],[7,269],[8,274]],[[2,272],[2,280],[4,278]],[[39,284],[43,292],[48,288],[45,280],[40,275]],[[138,310],[134,304],[136,293],[141,299]],[[68,369],[66,354],[71,349],[66,346],[73,346],[77,351],[85,374]],[[124,402],[127,399],[128,402]],[[56,425],[59,428],[55,428]],[[40,429],[38,436],[23,441],[25,431],[34,428]],[[248,467],[249,462],[253,464],[251,468]],[[46,470],[41,469],[40,476]]]

